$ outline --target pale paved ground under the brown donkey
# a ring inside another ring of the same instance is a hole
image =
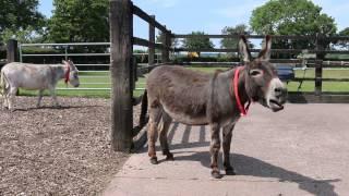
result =
[[[349,105],[288,103],[278,113],[253,105],[233,131],[238,175],[220,180],[209,174],[208,126],[173,123],[168,137],[174,161],[158,151],[153,166],[145,150],[135,154],[104,195],[349,194]]]

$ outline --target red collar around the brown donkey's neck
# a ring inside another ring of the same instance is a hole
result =
[[[251,100],[249,99],[246,108],[244,108],[244,106],[241,103],[241,99],[240,99],[240,96],[239,96],[239,88],[238,88],[239,73],[240,73],[241,70],[242,70],[242,66],[238,66],[236,69],[236,71],[233,73],[233,78],[231,78],[230,91],[233,91],[238,108],[240,110],[240,114],[241,114],[241,117],[244,117],[244,115],[248,114],[248,110],[250,108]],[[231,97],[232,97],[232,95],[231,95]]]

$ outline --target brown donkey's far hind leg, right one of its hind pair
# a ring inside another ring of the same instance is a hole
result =
[[[167,132],[172,122],[172,118],[163,111],[163,127],[160,128],[160,145],[163,154],[166,155],[166,160],[173,160],[173,155],[170,152],[167,142]]]

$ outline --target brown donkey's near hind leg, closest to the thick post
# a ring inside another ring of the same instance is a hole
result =
[[[153,103],[149,108],[149,124],[148,124],[148,156],[151,157],[151,162],[157,164],[155,143],[158,137],[158,124],[161,120],[161,106],[158,103]]]

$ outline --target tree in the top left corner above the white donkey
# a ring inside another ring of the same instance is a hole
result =
[[[1,0],[0,41],[17,38],[27,42],[43,34],[46,20],[37,7],[38,0]]]

